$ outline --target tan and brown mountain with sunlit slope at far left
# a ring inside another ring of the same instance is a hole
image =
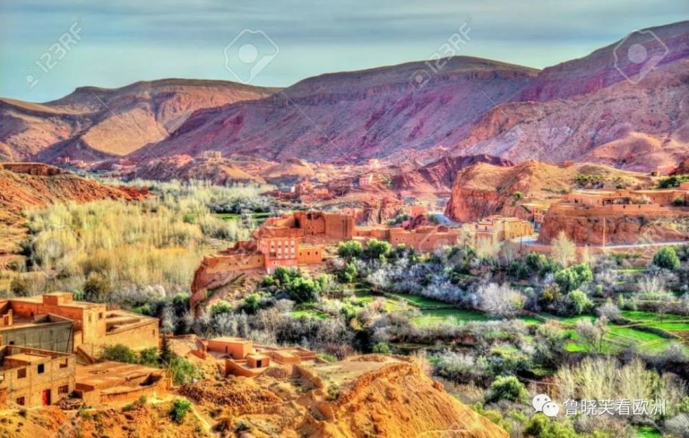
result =
[[[194,111],[268,96],[276,89],[226,81],[163,79],[81,87],[47,103],[0,99],[0,160],[124,156],[173,132]]]

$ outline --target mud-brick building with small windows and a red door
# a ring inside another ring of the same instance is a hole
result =
[[[74,390],[72,354],[8,345],[0,349],[0,404],[45,406]]]

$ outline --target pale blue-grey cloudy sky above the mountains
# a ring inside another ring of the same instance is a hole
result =
[[[688,18],[687,0],[0,0],[0,96],[170,77],[284,87],[431,59],[460,29],[453,54],[542,68]]]

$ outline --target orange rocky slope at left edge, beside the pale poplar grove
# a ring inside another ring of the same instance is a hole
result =
[[[52,202],[131,200],[141,196],[134,189],[107,187],[48,165],[0,163],[0,255],[19,250],[19,241],[28,231],[21,216],[25,209]]]

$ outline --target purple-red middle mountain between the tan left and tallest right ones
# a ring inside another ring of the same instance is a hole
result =
[[[423,62],[300,81],[269,98],[194,114],[154,154],[196,155],[220,147],[271,160],[399,161],[410,151],[454,145],[481,114],[527,85],[537,70],[457,56],[422,87]],[[135,154],[137,155],[137,154]]]

